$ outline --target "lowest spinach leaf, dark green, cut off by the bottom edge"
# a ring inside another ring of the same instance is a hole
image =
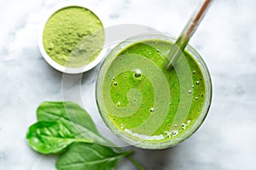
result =
[[[55,167],[58,170],[113,170],[118,161],[130,152],[116,153],[100,144],[72,144],[67,152],[59,156]]]

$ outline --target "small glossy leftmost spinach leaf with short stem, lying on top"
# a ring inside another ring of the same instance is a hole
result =
[[[73,142],[91,143],[89,139],[76,139],[73,132],[61,122],[37,122],[26,133],[28,144],[43,154],[58,153]]]

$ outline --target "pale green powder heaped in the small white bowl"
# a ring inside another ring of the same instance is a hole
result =
[[[89,64],[104,43],[101,20],[83,7],[61,8],[44,27],[44,49],[56,63],[75,68]]]

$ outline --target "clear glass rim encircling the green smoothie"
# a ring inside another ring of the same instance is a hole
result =
[[[193,57],[193,59],[196,60],[196,62],[200,66],[203,77],[204,77],[204,81],[206,84],[206,98],[205,98],[200,116],[198,116],[196,121],[193,123],[191,127],[189,127],[189,129],[186,132],[184,132],[183,134],[181,134],[181,136],[172,140],[159,141],[159,142],[153,143],[153,142],[144,142],[143,140],[132,139],[131,137],[129,138],[129,135],[127,133],[119,131],[119,129],[115,127],[112,122],[108,120],[108,117],[102,114],[101,106],[98,101],[99,99],[98,96],[100,95],[99,91],[101,89],[100,85],[102,81],[101,73],[102,71],[104,72],[109,62],[111,61],[113,55],[118,54],[120,50],[128,47],[133,42],[150,40],[150,39],[161,39],[169,42],[175,42],[177,38],[173,37],[172,35],[167,35],[163,33],[144,33],[144,34],[139,34],[137,36],[127,38],[124,41],[119,42],[119,44],[116,45],[114,48],[112,48],[110,52],[107,54],[106,58],[102,62],[102,65],[100,66],[100,70],[98,71],[97,78],[96,78],[96,104],[103,122],[105,122],[105,124],[113,134],[118,136],[120,139],[123,139],[128,144],[137,146],[138,148],[157,150],[157,149],[166,149],[183,142],[183,140],[188,139],[192,134],[194,134],[197,131],[199,127],[201,127],[201,124],[204,122],[204,120],[207,117],[207,114],[209,112],[209,109],[212,103],[212,79],[204,59],[202,59],[201,55],[195,50],[195,48],[193,48],[188,44],[185,50],[187,53],[189,53]]]

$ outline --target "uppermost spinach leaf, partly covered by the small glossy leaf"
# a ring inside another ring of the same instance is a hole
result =
[[[38,121],[59,121],[73,132],[76,138],[92,139],[99,144],[109,144],[98,133],[90,115],[73,102],[44,102],[38,106]]]

